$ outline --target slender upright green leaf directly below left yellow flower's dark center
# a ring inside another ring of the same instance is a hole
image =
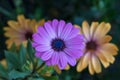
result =
[[[28,52],[30,60],[34,64],[34,59],[33,59],[34,58],[34,49],[32,47],[32,44],[31,44],[30,40],[28,40],[28,43],[27,43],[27,52]]]

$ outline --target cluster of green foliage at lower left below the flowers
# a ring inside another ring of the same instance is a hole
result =
[[[21,44],[18,50],[13,44],[10,50],[5,51],[7,66],[0,64],[0,79],[6,80],[57,80],[50,77],[53,68],[46,66],[42,60],[34,57],[34,49],[28,40],[27,49]]]

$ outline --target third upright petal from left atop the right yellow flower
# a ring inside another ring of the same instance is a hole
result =
[[[105,23],[104,22],[101,22],[98,25],[98,27],[96,28],[95,33],[93,35],[93,39],[94,40],[96,40],[96,39],[99,40],[100,39],[100,35],[101,35],[102,30],[104,29],[104,27],[105,27]]]

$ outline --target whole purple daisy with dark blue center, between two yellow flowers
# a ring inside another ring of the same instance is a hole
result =
[[[45,22],[33,34],[35,56],[49,66],[58,65],[60,69],[64,69],[67,64],[75,66],[76,59],[83,55],[85,47],[83,35],[79,31],[79,28],[64,20]]]

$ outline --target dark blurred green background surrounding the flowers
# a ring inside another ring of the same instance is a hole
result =
[[[120,0],[0,0],[0,59],[6,49],[3,27],[18,14],[36,20],[64,19],[81,25],[83,20],[110,22],[112,42],[120,48]],[[55,74],[53,74],[55,75]],[[116,61],[100,74],[89,75],[88,70],[76,72],[75,67],[63,71],[60,80],[120,80],[120,54]]]

